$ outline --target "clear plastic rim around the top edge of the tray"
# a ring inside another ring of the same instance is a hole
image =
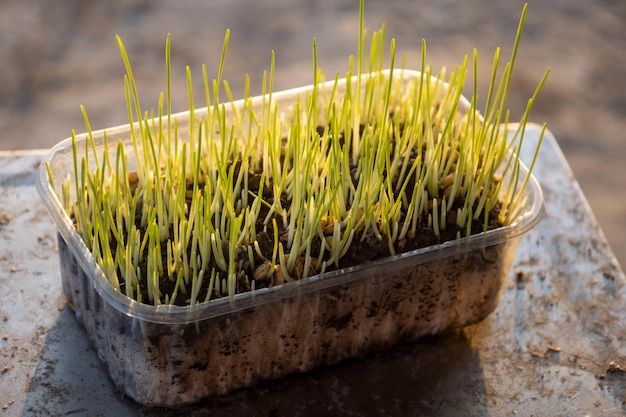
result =
[[[398,70],[402,71],[403,78],[414,78],[420,76],[419,71],[414,70]],[[389,74],[389,70],[382,71],[383,75]],[[372,74],[363,74],[363,77],[369,77]],[[356,76],[352,77],[354,81]],[[431,77],[434,78],[434,77]],[[437,82],[447,84],[439,79]],[[324,84],[334,83],[335,81],[327,81]],[[339,80],[340,84],[346,84],[347,79]],[[272,97],[281,99],[289,96],[297,95],[309,91],[312,86],[297,87],[289,90],[275,92]],[[262,100],[262,96],[252,98],[253,103]],[[241,105],[244,100],[237,100],[234,105]],[[461,110],[467,111],[470,103],[462,96],[459,102]],[[200,108],[194,111],[194,115],[201,115],[207,112],[207,108]],[[183,111],[174,113],[172,118],[189,118],[190,112]],[[109,129],[100,129],[93,131],[92,135],[121,134],[128,132],[133,126],[136,127],[137,122],[133,125],[124,124]],[[509,128],[513,128],[517,124],[508,124]],[[503,126],[502,128],[505,128]],[[513,130],[513,129],[511,129]],[[76,136],[77,141],[84,140],[87,133]],[[510,225],[502,226],[497,229],[489,230],[469,237],[463,237],[458,240],[444,242],[438,245],[426,248],[416,249],[409,252],[389,256],[376,261],[365,264],[341,268],[326,272],[322,275],[315,275],[301,280],[284,283],[271,288],[262,288],[255,291],[240,293],[232,297],[224,297],[214,299],[207,303],[199,303],[194,306],[175,306],[175,305],[159,305],[153,306],[149,304],[139,303],[123,293],[116,291],[106,279],[104,273],[97,265],[95,259],[91,256],[82,238],[73,226],[68,214],[54,191],[54,188],[48,180],[48,172],[46,165],[51,163],[57,155],[71,155],[72,138],[67,138],[55,145],[42,160],[37,170],[36,188],[43,200],[48,212],[52,216],[57,225],[58,233],[68,245],[71,253],[78,260],[84,273],[94,286],[103,301],[109,303],[113,308],[129,317],[133,317],[145,322],[156,324],[188,324],[202,320],[212,319],[226,314],[232,314],[247,310],[259,305],[285,300],[287,298],[320,291],[330,287],[346,285],[351,282],[365,279],[377,272],[389,271],[393,268],[414,267],[427,262],[443,259],[451,255],[463,254],[478,248],[494,246],[503,243],[509,239],[517,238],[530,230],[532,230],[541,220],[544,214],[544,201],[541,187],[536,178],[529,174],[528,168],[520,161],[521,178],[530,175],[528,184],[525,189],[525,197],[527,199],[526,209],[520,213],[519,217]],[[69,147],[68,147],[69,144]],[[514,156],[516,157],[516,156]],[[392,266],[393,265],[393,266]]]

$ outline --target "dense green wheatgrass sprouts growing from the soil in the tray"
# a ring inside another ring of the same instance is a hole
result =
[[[314,39],[310,90],[290,102],[275,94],[272,52],[261,96],[246,76],[237,101],[224,78],[227,31],[216,78],[202,67],[204,109],[186,69],[188,118],[172,115],[170,37],[167,94],[145,113],[118,37],[128,138],[97,142],[82,109],[86,139],[72,133],[74,175],[55,192],[111,285],[157,306],[234,297],[510,224],[528,182],[515,155],[548,74],[510,132],[525,15],[502,74],[494,54],[482,111],[462,96],[472,69],[478,85],[476,52],[435,73],[423,41],[419,73],[396,66],[384,25],[368,42],[364,1],[345,79],[325,82]]]

